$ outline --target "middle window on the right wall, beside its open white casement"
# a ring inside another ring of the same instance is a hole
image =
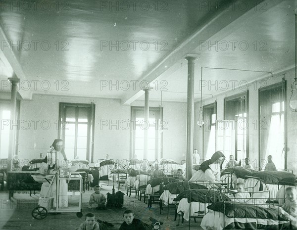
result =
[[[248,92],[224,98],[224,119],[235,120],[235,159],[244,160],[248,156],[247,108]]]

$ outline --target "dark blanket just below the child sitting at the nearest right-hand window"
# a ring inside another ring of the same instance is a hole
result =
[[[292,173],[279,172],[279,171],[256,172],[256,173],[250,174],[249,176],[260,178],[266,184],[278,184],[279,181],[282,181],[285,178],[292,178],[292,180],[296,179],[295,175]]]

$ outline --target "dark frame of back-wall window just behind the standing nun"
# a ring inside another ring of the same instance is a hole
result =
[[[88,136],[87,136],[87,153],[86,153],[86,159],[90,162],[93,163],[94,161],[94,132],[95,132],[95,109],[96,105],[95,103],[91,102],[90,104],[85,104],[85,103],[68,103],[68,102],[60,102],[59,103],[59,119],[58,119],[58,138],[63,139],[65,137],[65,129],[61,128],[61,122],[65,122],[67,124],[66,119],[66,113],[65,113],[65,108],[66,107],[74,107],[75,108],[75,113],[76,116],[78,115],[78,108],[79,107],[85,107],[90,109],[91,111],[88,112]],[[77,125],[78,122],[77,120],[75,122],[70,122],[71,124],[75,123],[75,130],[77,133]],[[85,123],[85,122],[83,122]],[[77,135],[75,136],[75,146],[77,143]],[[65,147],[65,140],[63,139],[63,149]],[[74,158],[76,156],[77,148],[74,150]]]

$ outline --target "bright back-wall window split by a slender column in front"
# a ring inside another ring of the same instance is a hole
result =
[[[131,126],[131,158],[144,159],[144,135],[148,129],[148,161],[153,161],[162,157],[162,133],[160,125],[162,111],[158,107],[149,107],[149,125],[145,121],[144,107],[131,107],[131,120],[134,125]]]

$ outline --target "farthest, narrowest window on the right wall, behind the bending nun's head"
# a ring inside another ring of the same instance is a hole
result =
[[[203,159],[210,159],[215,152],[215,121],[216,121],[216,102],[203,106]]]

